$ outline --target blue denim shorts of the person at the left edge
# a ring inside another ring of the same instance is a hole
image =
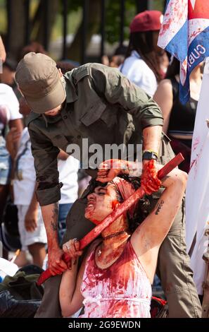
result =
[[[3,136],[0,136],[0,185],[9,183],[11,173],[11,157],[6,150],[6,142]]]

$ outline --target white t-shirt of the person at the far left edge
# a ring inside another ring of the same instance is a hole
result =
[[[19,112],[18,98],[13,89],[0,83],[0,131],[4,129],[8,121],[21,119],[23,116]]]

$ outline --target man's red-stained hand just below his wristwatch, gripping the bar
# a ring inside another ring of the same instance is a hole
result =
[[[161,186],[161,181],[158,179],[158,170],[156,168],[156,160],[144,160],[143,172],[141,175],[141,186],[147,195],[158,191]]]

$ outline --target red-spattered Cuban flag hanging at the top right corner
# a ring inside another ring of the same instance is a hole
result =
[[[179,97],[189,101],[189,75],[209,56],[209,1],[167,0],[158,46],[181,62]]]

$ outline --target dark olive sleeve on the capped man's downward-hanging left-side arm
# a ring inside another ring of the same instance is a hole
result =
[[[42,134],[34,121],[28,125],[32,155],[37,179],[37,200],[40,206],[56,203],[61,199],[57,156],[60,152],[47,136]]]

